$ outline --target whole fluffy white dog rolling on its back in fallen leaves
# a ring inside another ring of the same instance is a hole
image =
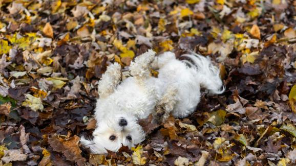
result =
[[[155,57],[152,50],[135,58],[130,65],[133,77],[120,84],[120,65],[107,68],[99,82],[99,99],[95,108],[96,129],[93,140],[81,138],[81,144],[92,153],[103,154],[129,148],[145,139],[137,123],[153,113],[164,121],[168,114],[186,117],[195,111],[200,100],[200,87],[212,94],[224,91],[220,70],[203,56],[183,55],[187,60],[177,60],[172,52]],[[158,69],[158,78],[150,68]]]

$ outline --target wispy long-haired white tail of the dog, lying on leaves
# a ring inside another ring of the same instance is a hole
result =
[[[201,87],[208,89],[212,94],[221,94],[224,92],[225,87],[220,78],[220,69],[209,58],[196,53],[185,54],[183,56],[190,60],[183,60],[184,63],[196,68],[196,79]]]

